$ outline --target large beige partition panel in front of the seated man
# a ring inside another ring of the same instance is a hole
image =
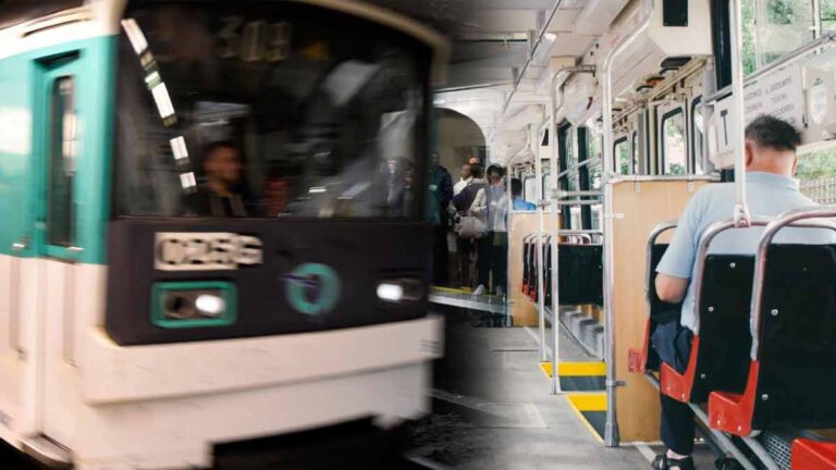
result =
[[[615,244],[616,376],[627,382],[617,392],[618,426],[624,442],[659,440],[659,393],[627,369],[627,352],[641,348],[647,325],[646,247],[659,223],[676,220],[704,182],[620,182],[613,187]]]

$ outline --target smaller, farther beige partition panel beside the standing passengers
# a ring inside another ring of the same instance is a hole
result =
[[[545,213],[543,217],[548,232],[552,226],[552,217],[550,213]],[[537,234],[539,227],[540,222],[534,212],[515,212],[511,217],[508,280],[512,301],[511,316],[514,319],[514,326],[537,326],[539,324],[534,302],[522,294],[522,238]]]

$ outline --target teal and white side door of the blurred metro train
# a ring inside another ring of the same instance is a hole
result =
[[[82,221],[95,219],[88,198],[103,199],[98,185],[86,171],[90,139],[83,133],[96,126],[85,115],[88,104],[81,90],[88,87],[82,74],[83,57],[70,51],[38,61],[34,101],[33,154],[39,174],[36,180],[34,243],[37,250],[37,321],[34,329],[34,364],[37,370],[34,395],[38,432],[59,442],[53,423],[72,409],[72,383],[75,373],[75,331],[82,295],[95,297],[96,290],[82,288],[79,260],[89,238]],[[82,118],[87,119],[82,119]],[[84,144],[84,145],[83,145]],[[86,194],[85,198],[81,195]],[[85,222],[89,223],[89,222]],[[89,311],[89,310],[86,310]]]

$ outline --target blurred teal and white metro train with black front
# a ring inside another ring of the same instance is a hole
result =
[[[426,412],[447,48],[340,0],[0,2],[0,437],[206,468]]]

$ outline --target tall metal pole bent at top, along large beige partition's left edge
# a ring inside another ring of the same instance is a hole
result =
[[[603,186],[604,201],[602,212],[604,214],[604,329],[606,331],[606,425],[604,428],[604,445],[607,447],[618,447],[620,437],[618,435],[618,420],[616,419],[615,392],[618,386],[615,371],[615,310],[613,306],[613,286],[615,285],[615,252],[613,249],[613,188],[611,180],[613,178],[613,63],[615,58],[632,44],[634,40],[650,26],[653,18],[654,0],[644,0],[641,21],[624,40],[617,44],[604,59],[601,79],[603,81],[603,132],[604,132],[604,163],[603,163]]]

